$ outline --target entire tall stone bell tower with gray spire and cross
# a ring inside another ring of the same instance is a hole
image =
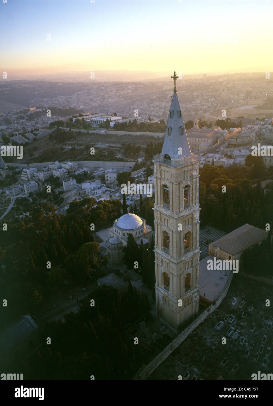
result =
[[[179,330],[199,310],[199,164],[191,153],[174,71],[174,90],[155,168],[157,313]]]

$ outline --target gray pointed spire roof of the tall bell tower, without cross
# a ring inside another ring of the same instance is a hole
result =
[[[183,158],[192,154],[176,94],[176,88],[174,89],[161,155],[167,154],[170,155],[170,158]],[[181,149],[178,148],[182,148],[182,153]]]

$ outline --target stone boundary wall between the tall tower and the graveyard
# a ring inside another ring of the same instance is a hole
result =
[[[202,323],[205,318],[211,314],[217,307],[221,304],[223,299],[226,297],[228,292],[228,288],[230,287],[230,282],[232,280],[233,273],[231,272],[228,281],[226,283],[226,287],[224,289],[223,294],[221,297],[215,302],[215,304],[211,304],[203,313],[201,313],[185,330],[182,331],[175,339],[172,340],[170,344],[163,351],[161,351],[148,365],[145,365],[138,370],[138,372],[133,376],[134,380],[138,379],[147,379],[150,374],[187,338],[189,333],[191,333],[200,323]]]

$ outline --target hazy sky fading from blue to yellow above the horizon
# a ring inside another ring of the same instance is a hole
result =
[[[272,71],[272,3],[0,0],[0,71]]]

